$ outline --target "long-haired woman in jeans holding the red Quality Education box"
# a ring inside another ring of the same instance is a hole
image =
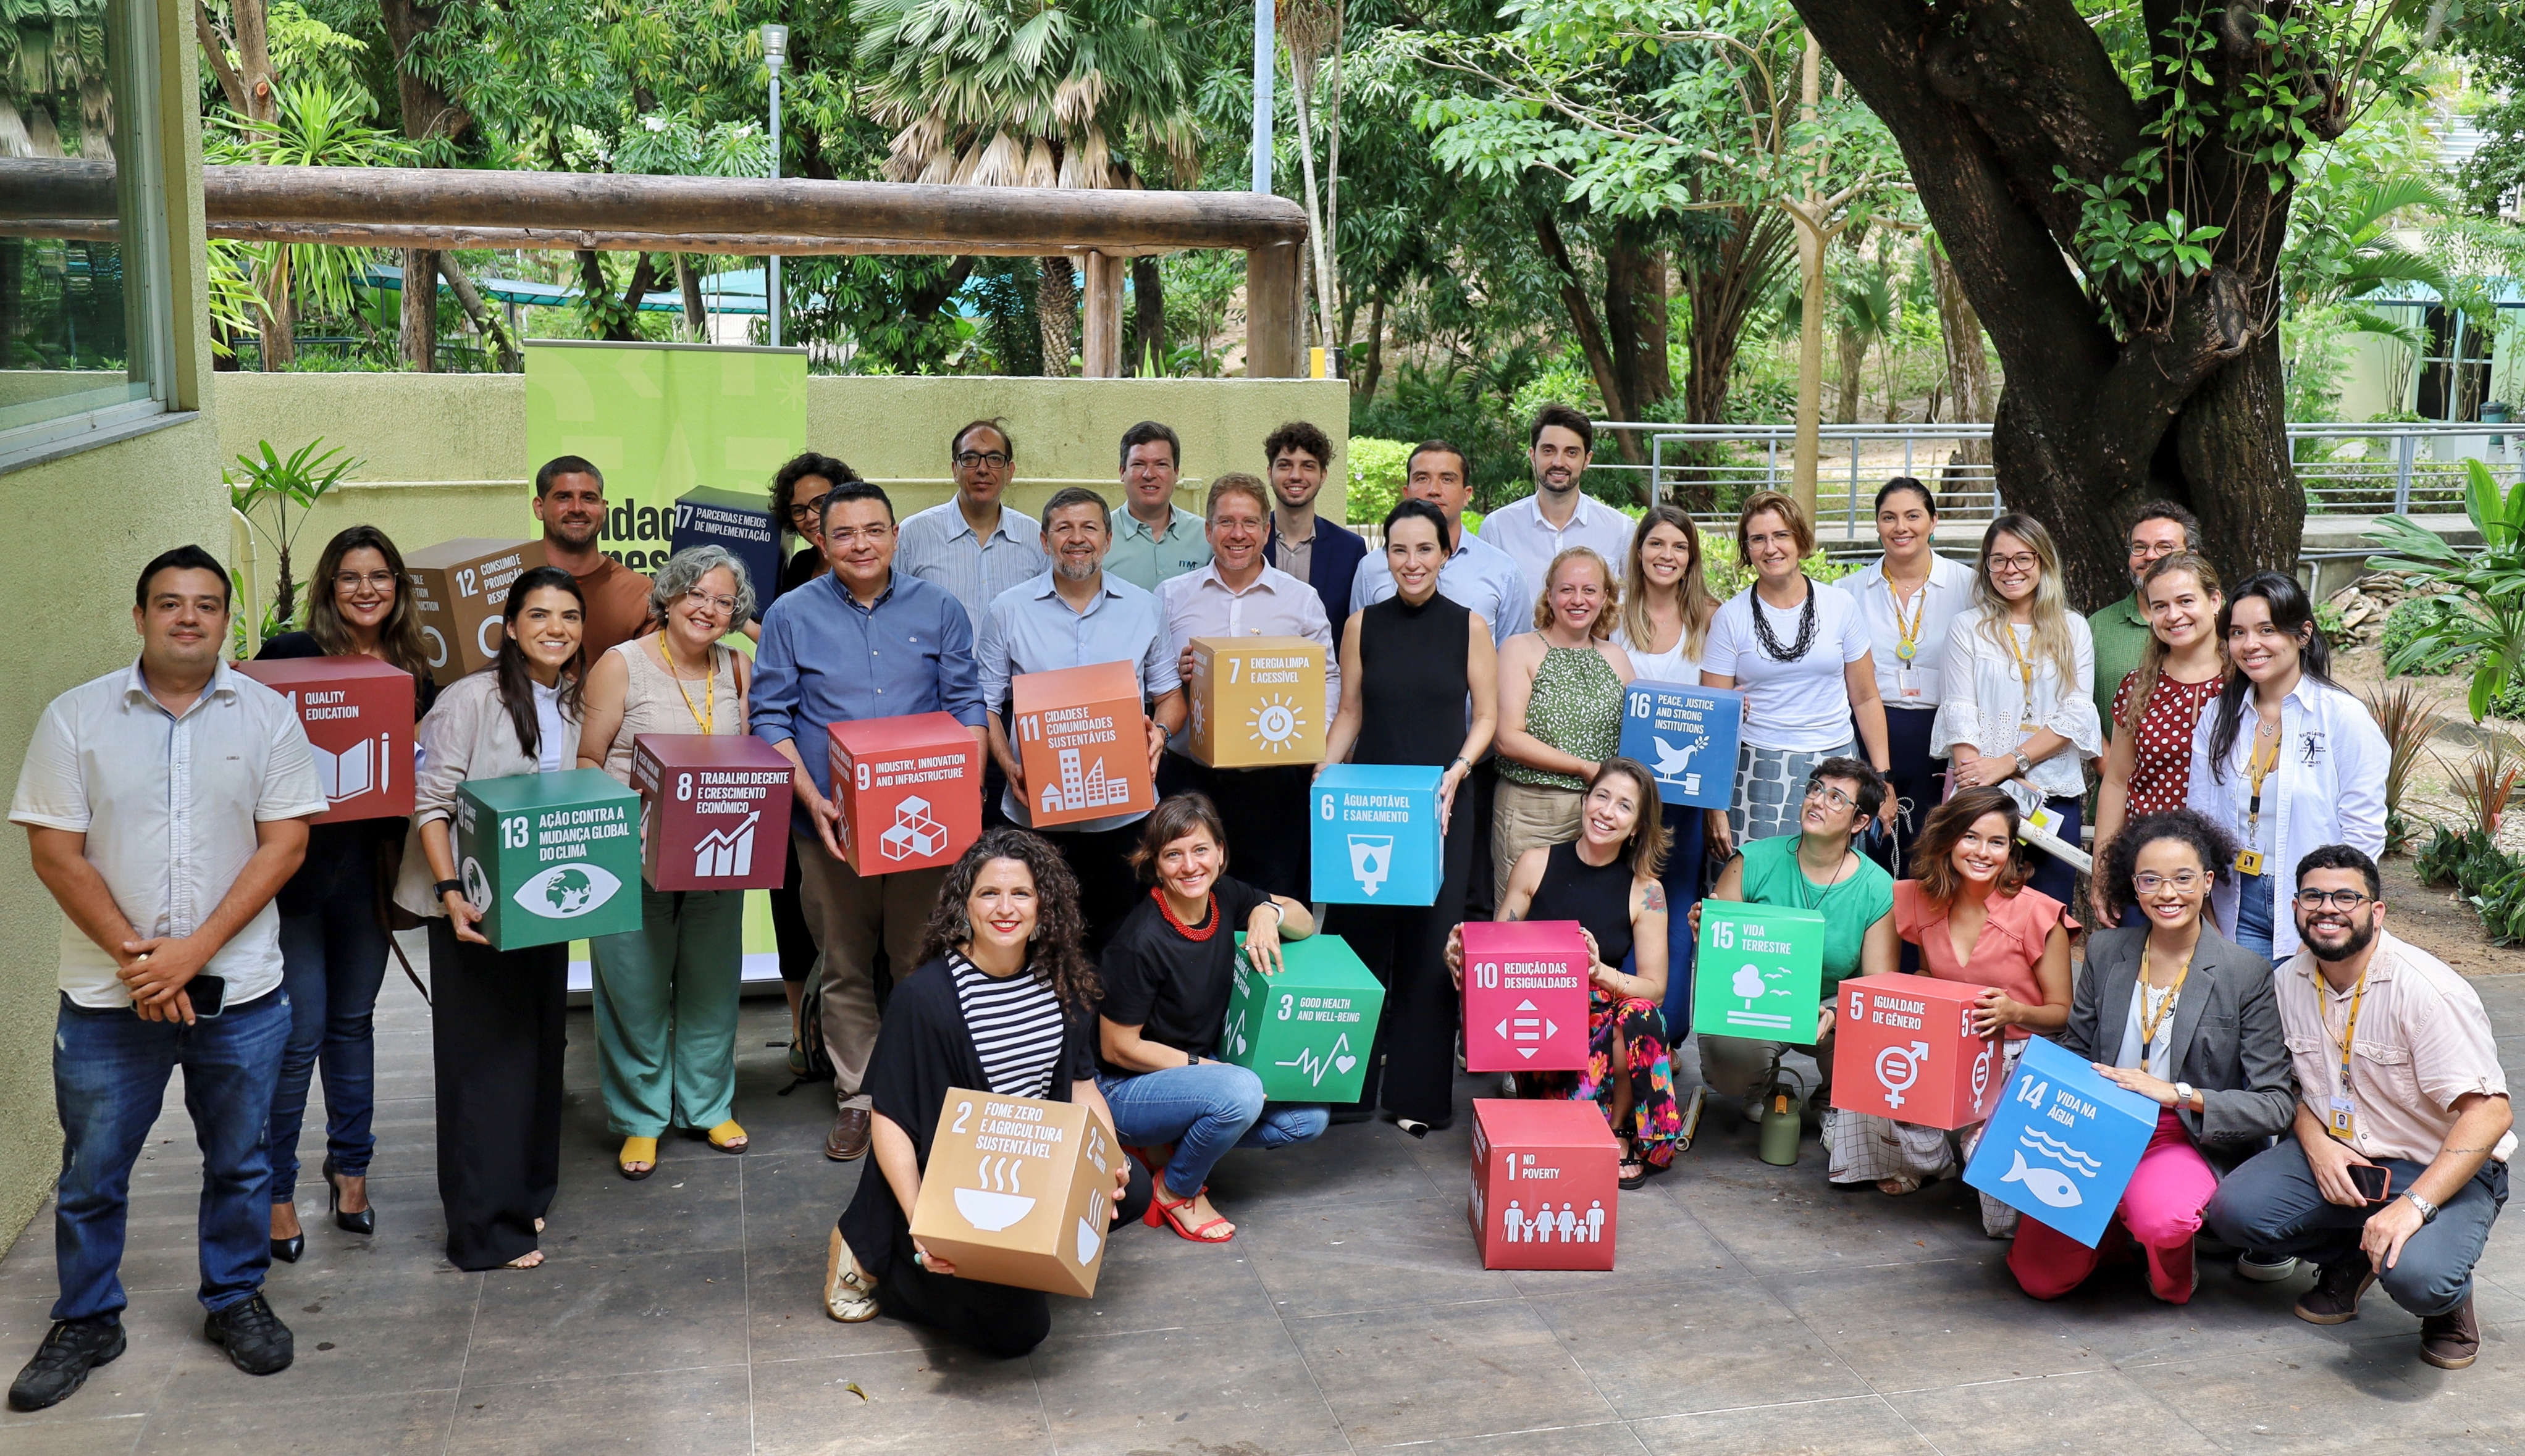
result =
[[[414,714],[439,689],[429,681],[422,616],[404,583],[404,553],[386,532],[354,525],[326,543],[308,583],[308,626],[263,643],[255,659],[374,656],[412,674]],[[273,1259],[306,1252],[298,1224],[298,1130],[308,1080],[323,1065],[323,1181],[333,1226],[374,1234],[369,1156],[376,1136],[376,992],[386,982],[386,891],[401,866],[409,820],[346,820],[308,830],[308,858],[280,886],[280,984],[290,994],[290,1040],[273,1088]]]

